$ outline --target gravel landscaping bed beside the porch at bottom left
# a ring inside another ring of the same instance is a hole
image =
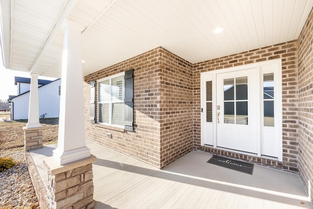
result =
[[[18,163],[0,172],[0,209],[40,209],[35,189],[24,160],[24,151],[10,149],[1,156],[11,156]]]

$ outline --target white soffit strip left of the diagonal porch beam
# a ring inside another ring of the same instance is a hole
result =
[[[30,70],[64,7],[64,0],[11,1],[12,70]]]

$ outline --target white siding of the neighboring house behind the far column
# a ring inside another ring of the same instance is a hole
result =
[[[46,114],[45,117],[59,117],[60,95],[59,86],[61,79],[53,81],[38,89],[39,97],[39,116]],[[27,119],[29,107],[29,92],[12,98],[13,119]]]

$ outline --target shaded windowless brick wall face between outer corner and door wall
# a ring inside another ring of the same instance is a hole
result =
[[[161,167],[193,149],[192,64],[161,48]]]

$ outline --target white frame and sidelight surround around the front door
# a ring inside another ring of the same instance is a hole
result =
[[[259,62],[259,63],[252,63],[248,65],[242,65],[242,66],[236,66],[232,68],[226,68],[226,69],[221,69],[221,70],[212,70],[212,71],[207,71],[207,72],[202,72],[201,73],[201,146],[209,146],[213,148],[218,148],[217,147],[217,110],[216,110],[216,75],[219,73],[226,73],[226,72],[231,72],[231,71],[237,71],[237,70],[247,70],[251,68],[257,68],[258,70],[258,82],[259,82],[259,89],[260,89],[260,101],[262,101],[263,104],[263,88],[261,88],[261,85],[263,85],[263,74],[273,72],[274,73],[274,93],[275,93],[275,106],[274,106],[274,120],[275,120],[275,136],[273,136],[274,139],[276,139],[276,144],[277,146],[277,156],[275,157],[268,157],[268,156],[263,156],[262,155],[262,141],[264,142],[264,136],[263,133],[265,129],[263,128],[263,113],[261,113],[260,109],[260,117],[259,119],[259,128],[258,128],[258,153],[257,155],[253,155],[250,153],[245,153],[241,151],[235,151],[235,150],[229,150],[232,152],[237,152],[240,154],[248,154],[256,157],[262,157],[262,158],[269,158],[269,159],[274,159],[281,161],[283,160],[283,128],[282,128],[282,64],[281,64],[281,59],[275,59],[275,60],[270,60],[270,61],[264,61],[264,62]],[[213,114],[213,121],[212,124],[209,125],[209,128],[207,127],[208,123],[206,122],[206,115],[205,115],[205,82],[206,81],[212,81],[212,114]],[[263,87],[263,86],[262,86]],[[260,106],[260,105],[259,105]],[[205,131],[206,134],[212,131],[210,133],[210,136],[213,137],[213,139],[205,139]],[[209,141],[209,143],[208,143]],[[227,150],[223,148],[218,148],[222,150]]]

